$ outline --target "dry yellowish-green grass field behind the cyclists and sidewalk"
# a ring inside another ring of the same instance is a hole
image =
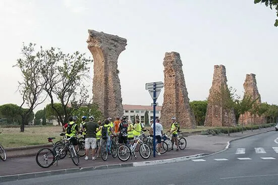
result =
[[[149,127],[147,127],[149,128]],[[183,132],[202,131],[211,127],[197,127],[196,129],[181,129]],[[164,131],[168,130],[167,128]],[[60,140],[61,126],[26,127],[24,132],[20,128],[1,128],[0,143],[5,147],[23,147],[31,145],[48,144],[47,137],[56,137]]]

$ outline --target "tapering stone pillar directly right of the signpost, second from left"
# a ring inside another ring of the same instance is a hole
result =
[[[196,120],[189,106],[182,61],[179,53],[165,53],[164,61],[164,100],[160,121],[171,126],[175,116],[181,128],[196,128]]]

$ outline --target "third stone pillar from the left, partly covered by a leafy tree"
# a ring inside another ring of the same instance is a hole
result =
[[[221,107],[215,105],[213,97],[215,92],[220,92],[221,88],[228,88],[226,68],[223,65],[215,65],[212,86],[209,89],[208,105],[206,109],[205,126],[228,126],[228,113]],[[230,126],[236,125],[236,116],[234,110],[229,114]]]

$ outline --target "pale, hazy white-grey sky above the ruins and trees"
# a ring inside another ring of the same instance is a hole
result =
[[[213,66],[225,65],[228,85],[243,95],[256,74],[262,102],[278,104],[278,28],[274,10],[253,0],[0,0],[0,105],[21,105],[18,68],[22,43],[65,53],[87,49],[88,29],[127,39],[118,59],[123,104],[151,105],[145,83],[164,80],[166,52],[180,53],[190,101],[205,100]],[[87,82],[92,97],[91,79]],[[49,99],[34,112],[43,109]],[[157,100],[163,103],[163,89]]]

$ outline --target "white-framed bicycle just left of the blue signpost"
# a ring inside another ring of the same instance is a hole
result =
[[[144,130],[143,130],[144,131]],[[140,139],[140,137],[144,134],[144,132],[141,132],[141,134],[136,138],[135,140],[130,140],[127,142],[127,144],[119,146],[117,150],[118,158],[121,161],[127,161],[130,156],[134,156],[136,159],[137,156],[135,155],[135,149],[138,144],[140,144],[139,147],[139,154],[143,159],[148,159],[150,157],[151,151],[147,144],[143,143],[143,141]],[[137,142],[135,142],[137,140]],[[134,142],[133,145],[130,144],[130,142]]]

